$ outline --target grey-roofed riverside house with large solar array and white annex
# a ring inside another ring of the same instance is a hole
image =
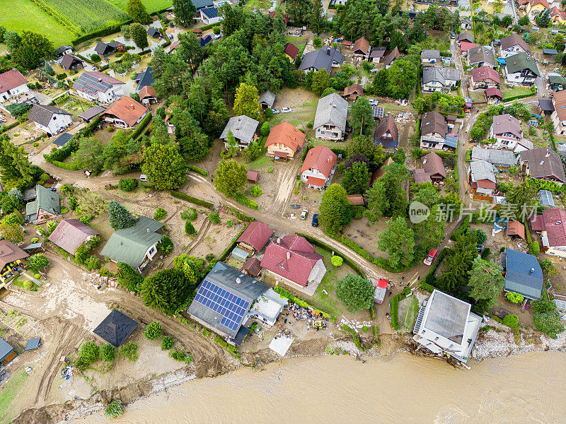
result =
[[[287,299],[269,285],[224,262],[216,262],[198,286],[187,314],[228,343],[240,346],[253,322],[275,325],[284,305]]]

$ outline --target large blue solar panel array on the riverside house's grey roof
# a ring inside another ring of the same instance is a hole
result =
[[[207,280],[204,280],[200,285],[195,301],[221,314],[220,324],[232,331],[238,330],[244,314],[250,308],[250,302],[247,300],[243,300]]]

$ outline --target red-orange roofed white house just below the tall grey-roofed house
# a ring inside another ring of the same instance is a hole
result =
[[[334,175],[338,156],[326,146],[315,146],[306,153],[301,170],[301,181],[308,184],[309,189],[322,190]]]

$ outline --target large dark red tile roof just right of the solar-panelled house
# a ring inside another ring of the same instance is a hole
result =
[[[278,240],[279,243],[271,242],[265,249],[262,268],[305,287],[308,276],[323,257],[299,235],[286,235]]]

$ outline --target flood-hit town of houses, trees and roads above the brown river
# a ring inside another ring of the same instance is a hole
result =
[[[0,424],[566,348],[565,3],[0,4]]]

